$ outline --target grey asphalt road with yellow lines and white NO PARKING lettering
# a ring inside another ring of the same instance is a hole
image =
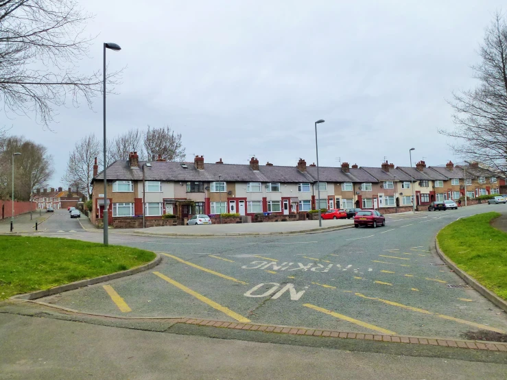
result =
[[[477,205],[392,215],[386,227],[375,229],[271,237],[178,239],[115,230],[111,244],[161,252],[161,265],[41,301],[111,316],[450,338],[479,329],[506,333],[506,313],[473,289],[448,287],[463,282],[433,248],[438,230],[458,217],[506,210],[504,204]],[[101,233],[82,229],[67,211],[57,211],[45,228],[41,235],[102,241]]]

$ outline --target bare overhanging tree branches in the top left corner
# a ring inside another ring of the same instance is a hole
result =
[[[35,112],[53,120],[54,108],[72,99],[78,106],[102,93],[102,73],[78,72],[92,38],[83,35],[91,15],[75,0],[0,1],[0,96],[5,112]],[[109,72],[109,71],[108,71]],[[115,84],[119,72],[108,73]],[[113,91],[110,88],[110,91]]]

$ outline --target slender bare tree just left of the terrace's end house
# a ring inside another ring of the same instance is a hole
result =
[[[95,137],[95,134],[89,134],[75,143],[62,182],[73,189],[86,190],[86,195],[91,198],[90,182],[93,178],[93,164],[95,157],[100,157],[101,152],[102,142]]]

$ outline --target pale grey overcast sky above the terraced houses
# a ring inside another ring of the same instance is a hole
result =
[[[381,3],[381,4],[379,4]],[[143,5],[141,5],[143,4]],[[438,128],[452,128],[446,99],[473,86],[470,66],[484,27],[504,1],[87,0],[99,34],[90,72],[127,66],[107,104],[108,137],[169,125],[187,161],[261,165],[316,161],[397,166],[456,161]],[[148,7],[149,5],[149,7]],[[49,132],[27,117],[4,119],[12,134],[49,148],[51,187],[64,185],[69,150],[102,136],[102,99],[91,111],[61,108]],[[11,115],[12,116],[12,115]],[[2,117],[3,118],[3,117]]]

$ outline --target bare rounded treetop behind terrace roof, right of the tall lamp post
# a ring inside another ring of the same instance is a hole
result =
[[[149,161],[161,156],[167,161],[184,161],[186,154],[182,147],[181,134],[175,134],[169,126],[150,128],[143,136],[144,150]]]

